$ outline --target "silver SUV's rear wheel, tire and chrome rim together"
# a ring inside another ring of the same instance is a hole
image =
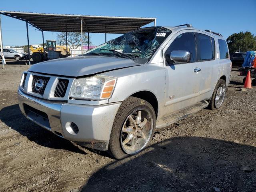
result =
[[[209,108],[214,110],[220,108],[226,95],[226,82],[223,79],[218,80],[212,98],[209,102]]]

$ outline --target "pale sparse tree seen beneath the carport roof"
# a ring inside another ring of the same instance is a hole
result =
[[[66,32],[60,32],[57,34],[57,42],[61,42],[62,44],[66,44]],[[90,36],[89,36],[89,42]],[[88,44],[88,36],[86,33],[83,33],[83,44]],[[72,49],[78,48],[81,45],[81,33],[79,32],[68,32],[68,45]]]

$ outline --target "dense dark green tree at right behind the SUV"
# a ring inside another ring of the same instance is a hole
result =
[[[256,50],[256,36],[248,31],[233,33],[227,38],[227,43],[230,52]]]

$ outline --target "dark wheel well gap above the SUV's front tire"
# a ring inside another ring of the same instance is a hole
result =
[[[153,94],[150,91],[139,91],[139,92],[133,93],[130,96],[137,97],[137,98],[140,98],[140,99],[143,99],[143,100],[149,102],[152,105],[152,107],[154,108],[156,118],[157,118],[157,116],[158,116],[158,100],[157,100],[155,94]]]

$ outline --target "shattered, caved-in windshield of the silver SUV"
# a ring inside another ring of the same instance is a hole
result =
[[[134,61],[142,58],[148,61],[170,34],[170,30],[161,26],[140,28],[97,46],[84,55],[119,56],[134,58]]]

